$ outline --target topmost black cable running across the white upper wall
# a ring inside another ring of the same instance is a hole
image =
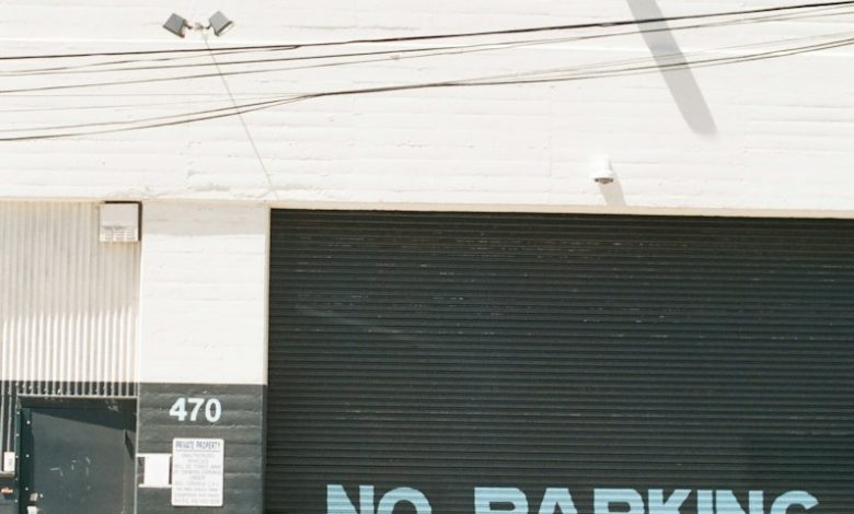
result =
[[[818,2],[818,3],[800,3],[794,5],[776,5],[770,8],[760,9],[746,9],[740,11],[722,11],[704,14],[685,14],[680,16],[661,16],[644,20],[619,20],[612,22],[590,22],[590,23],[576,23],[566,25],[549,25],[539,27],[526,27],[526,28],[506,28],[497,31],[478,31],[478,32],[464,32],[453,34],[430,34],[422,36],[399,36],[399,37],[380,37],[380,38],[362,38],[362,39],[348,39],[341,42],[321,42],[321,43],[305,43],[305,44],[279,44],[279,45],[256,45],[256,46],[235,46],[235,47],[220,47],[215,51],[232,51],[232,50],[267,50],[267,49],[297,49],[297,48],[310,48],[322,46],[344,46],[356,44],[382,44],[382,43],[406,43],[416,40],[436,40],[436,39],[450,39],[462,37],[482,37],[482,36],[499,36],[510,34],[532,34],[538,32],[554,32],[554,31],[578,31],[587,28],[610,28],[616,26],[627,25],[643,25],[649,23],[668,23],[684,20],[703,20],[709,17],[723,17],[723,16],[737,16],[746,14],[760,14],[769,12],[781,11],[795,11],[803,9],[816,9],[827,7],[841,7],[841,5],[854,5],[854,0],[840,0],[832,2]],[[2,60],[32,60],[32,59],[62,59],[62,58],[81,58],[81,57],[111,57],[111,56],[141,56],[141,55],[159,55],[159,54],[174,54],[174,52],[207,52],[207,48],[175,48],[168,50],[137,50],[137,51],[101,51],[101,52],[88,52],[88,54],[53,54],[53,55],[28,55],[28,56],[5,56],[0,57]]]

